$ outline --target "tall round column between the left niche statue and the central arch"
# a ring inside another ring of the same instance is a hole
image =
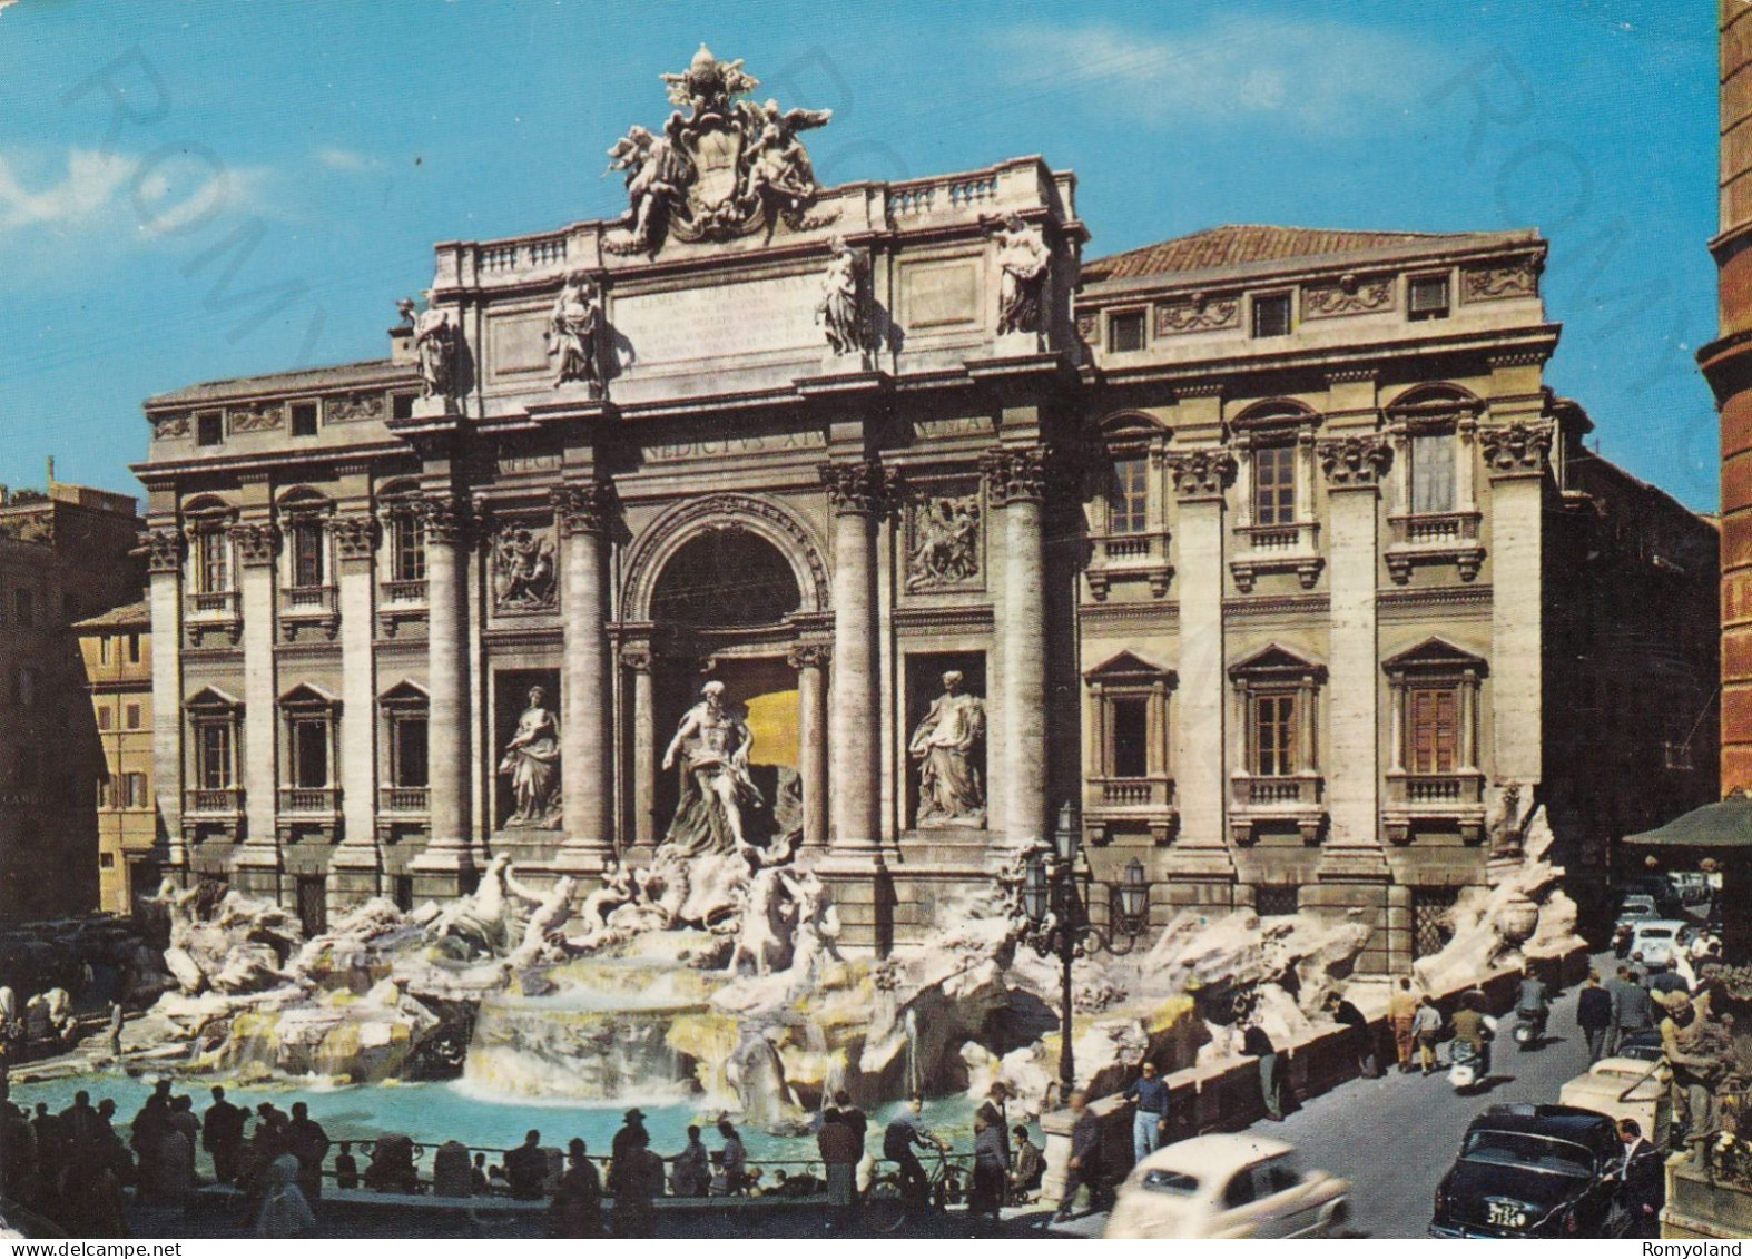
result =
[[[615,855],[615,783],[610,755],[606,485],[562,485],[554,511],[566,539],[566,657],[561,681],[561,791],[566,842],[559,862],[599,870]]]

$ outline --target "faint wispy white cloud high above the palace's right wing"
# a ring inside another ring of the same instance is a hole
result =
[[[1303,130],[1346,130],[1372,110],[1409,103],[1421,81],[1412,70],[1428,58],[1398,35],[1295,18],[1219,16],[1169,33],[1035,25],[999,40],[1039,89],[1123,93],[1128,116],[1146,126],[1268,117]]]

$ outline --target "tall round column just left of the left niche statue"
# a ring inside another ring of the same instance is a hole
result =
[[[426,501],[426,671],[431,837],[410,869],[415,895],[456,895],[468,853],[468,653],[463,650],[466,520],[452,497]]]

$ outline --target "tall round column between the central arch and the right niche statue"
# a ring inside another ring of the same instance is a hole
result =
[[[872,459],[825,464],[834,504],[834,851],[876,853],[881,837],[881,692],[876,671],[876,520],[888,475]]]

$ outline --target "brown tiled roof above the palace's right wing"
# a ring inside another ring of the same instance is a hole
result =
[[[1246,263],[1289,257],[1330,257],[1419,245],[1533,243],[1533,231],[1344,231],[1332,228],[1279,228],[1260,222],[1225,222],[1190,236],[1162,240],[1083,264],[1084,280],[1130,280],[1174,271],[1207,271]]]

